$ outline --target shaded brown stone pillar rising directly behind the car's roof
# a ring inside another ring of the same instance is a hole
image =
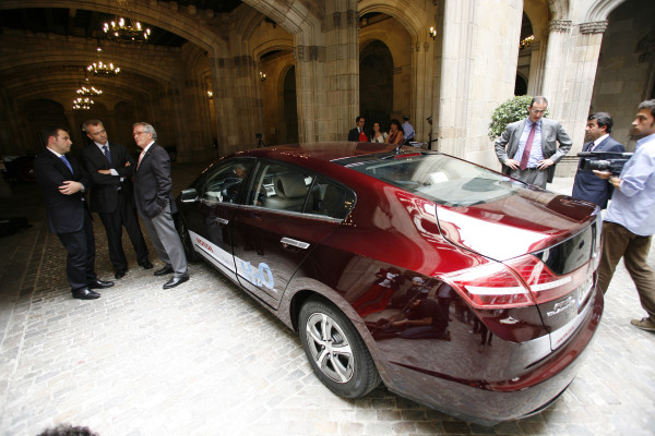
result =
[[[295,36],[298,138],[343,140],[359,112],[357,2],[326,1],[323,28]]]

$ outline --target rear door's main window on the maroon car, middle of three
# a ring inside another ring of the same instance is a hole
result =
[[[255,175],[248,204],[270,209],[302,211],[313,175],[300,168],[263,164]]]

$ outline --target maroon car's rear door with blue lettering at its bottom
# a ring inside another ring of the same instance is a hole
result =
[[[349,213],[355,194],[307,169],[263,160],[247,198],[231,227],[237,278],[277,307],[303,259]]]

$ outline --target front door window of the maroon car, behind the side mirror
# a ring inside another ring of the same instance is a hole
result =
[[[246,184],[252,159],[230,159],[219,165],[206,178],[202,198],[215,203],[236,203]]]

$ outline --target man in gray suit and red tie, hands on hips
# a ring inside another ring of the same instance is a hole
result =
[[[556,164],[572,145],[559,121],[543,118],[546,108],[546,97],[534,97],[527,107],[527,118],[508,125],[496,141],[502,172],[543,189],[552,182]]]

